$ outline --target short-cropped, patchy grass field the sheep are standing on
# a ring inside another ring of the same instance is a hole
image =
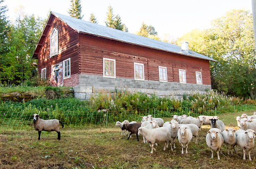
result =
[[[251,112],[248,112],[251,114]],[[234,116],[241,113],[220,115],[226,128],[238,129]],[[165,121],[170,119],[165,119]],[[188,154],[181,154],[181,146],[176,140],[176,149],[163,151],[163,144],[156,147],[157,152],[151,154],[151,148],[139,142],[136,136],[121,137],[120,129],[116,126],[98,128],[68,128],[61,130],[61,140],[57,140],[56,132],[42,132],[38,141],[38,133],[33,130],[0,131],[0,168],[1,169],[30,169],[30,168],[246,168],[256,167],[256,148],[243,160],[242,151],[238,154],[227,155],[227,148],[223,147],[224,155],[217,159],[216,153],[211,159],[211,150],[206,145],[206,132],[210,126],[203,126],[199,132],[199,143],[194,138],[189,143]]]

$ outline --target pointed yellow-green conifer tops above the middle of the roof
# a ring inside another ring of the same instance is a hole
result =
[[[122,23],[120,15],[117,14],[115,16],[113,13],[113,8],[111,6],[108,6],[105,24],[107,27],[128,32],[128,28],[125,26],[124,23]]]

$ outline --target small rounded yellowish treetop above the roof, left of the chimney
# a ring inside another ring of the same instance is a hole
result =
[[[157,37],[155,28],[152,25],[147,25],[144,22],[141,24],[141,28],[139,29],[139,32],[137,32],[137,35],[160,40],[159,37]]]

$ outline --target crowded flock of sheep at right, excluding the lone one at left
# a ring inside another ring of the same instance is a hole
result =
[[[233,128],[225,129],[223,121],[219,120],[218,116],[199,116],[197,118],[182,115],[173,115],[173,119],[170,122],[165,122],[162,118],[153,118],[151,115],[141,117],[141,123],[128,120],[116,122],[116,126],[120,127],[121,135],[129,133],[128,140],[132,134],[136,134],[137,141],[139,141],[138,135],[143,137],[144,143],[149,143],[151,147],[151,153],[156,149],[154,146],[158,143],[165,143],[164,149],[168,148],[170,144],[171,150],[175,148],[175,139],[177,138],[182,146],[182,154],[188,153],[188,145],[194,136],[195,143],[197,143],[198,133],[201,130],[201,125],[211,125],[210,130],[206,134],[206,144],[211,149],[211,158],[213,158],[213,152],[216,151],[218,160],[220,160],[219,152],[222,153],[221,147],[225,144],[227,146],[227,154],[233,154],[233,150],[237,152],[236,147],[240,147],[243,150],[245,160],[245,153],[248,152],[249,160],[251,160],[251,150],[254,148],[254,138],[256,135],[256,112],[254,115],[248,116],[242,114],[242,116],[235,117],[239,130]]]

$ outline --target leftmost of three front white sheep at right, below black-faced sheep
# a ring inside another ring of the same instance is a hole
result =
[[[213,151],[217,151],[218,160],[220,160],[219,151],[221,152],[221,147],[224,144],[224,138],[218,128],[212,128],[207,132],[206,144],[211,148],[211,158],[213,158]]]

